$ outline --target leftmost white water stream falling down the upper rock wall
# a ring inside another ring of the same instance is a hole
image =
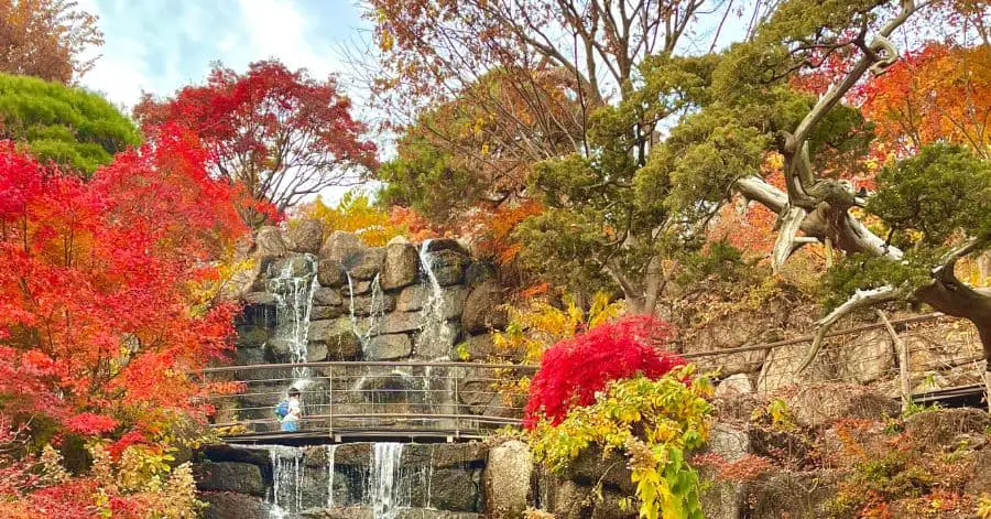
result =
[[[293,261],[286,260],[275,278],[269,280],[269,293],[275,298],[275,339],[288,346],[290,361],[306,361],[309,335],[309,315],[313,311],[313,294],[317,282],[316,258],[304,255],[306,272],[300,277],[294,272]],[[306,379],[306,368],[293,368],[293,378]]]

